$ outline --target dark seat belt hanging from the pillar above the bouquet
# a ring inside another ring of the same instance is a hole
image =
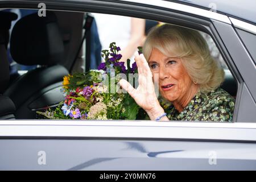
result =
[[[73,63],[71,65],[70,72],[72,71],[77,57],[79,56],[80,50],[82,48],[82,44],[84,43],[84,40],[86,39],[86,51],[85,51],[85,72],[89,71],[90,69],[90,27],[92,27],[93,22],[93,16],[90,16],[88,13],[86,13],[86,20],[84,27],[82,27],[84,31],[84,36],[82,37],[82,42],[80,43],[79,49],[77,50],[75,60],[73,60]]]

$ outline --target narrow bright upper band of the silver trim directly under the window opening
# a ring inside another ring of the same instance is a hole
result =
[[[256,123],[238,122],[185,122],[185,121],[150,121],[150,120],[0,120],[0,127],[6,125],[63,125],[63,126],[157,126],[157,127],[215,127],[256,129]],[[1,135],[1,133],[0,133]]]

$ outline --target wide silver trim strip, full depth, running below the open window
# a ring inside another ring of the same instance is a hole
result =
[[[85,137],[256,141],[255,123],[0,121],[1,137]]]

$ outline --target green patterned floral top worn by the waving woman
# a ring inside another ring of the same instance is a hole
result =
[[[234,102],[234,98],[221,88],[206,94],[197,92],[181,113],[175,109],[171,102],[160,99],[160,105],[171,121],[232,122]]]

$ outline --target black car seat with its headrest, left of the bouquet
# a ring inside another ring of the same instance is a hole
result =
[[[64,46],[53,12],[47,11],[46,17],[30,14],[16,22],[10,52],[16,63],[39,65],[16,78],[4,93],[16,106],[15,118],[35,119],[37,110],[64,100],[60,89],[68,70],[59,64],[64,59]]]

